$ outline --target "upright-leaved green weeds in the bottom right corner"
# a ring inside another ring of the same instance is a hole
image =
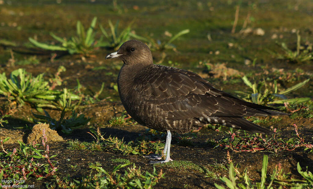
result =
[[[248,189],[248,188],[268,188],[273,189],[277,183],[281,188],[282,186],[290,187],[290,188],[311,188],[313,187],[313,175],[310,171],[302,171],[300,164],[297,164],[297,170],[300,175],[304,178],[304,180],[298,180],[291,178],[291,174],[285,174],[280,164],[276,165],[273,173],[268,175],[267,172],[268,166],[268,156],[263,156],[262,170],[261,170],[261,180],[260,182],[251,182],[253,179],[249,178],[247,174],[247,169],[245,169],[244,174],[240,174],[239,172],[235,172],[235,168],[233,166],[233,162],[230,162],[228,178],[220,177],[221,181],[223,181],[228,188],[233,189]],[[225,189],[224,187],[214,183],[215,187],[218,189]]]

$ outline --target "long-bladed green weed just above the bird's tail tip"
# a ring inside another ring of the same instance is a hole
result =
[[[278,91],[278,86],[277,86],[277,81],[274,81],[274,85],[272,87],[269,86],[263,79],[263,81],[260,81],[258,84],[254,82],[252,84],[246,76],[242,77],[244,83],[250,87],[250,91],[252,93],[247,93],[247,92],[241,92],[241,91],[236,91],[239,94],[244,94],[245,97],[243,97],[244,100],[250,101],[256,104],[263,104],[266,105],[268,103],[300,103],[300,102],[305,102],[309,101],[310,98],[292,98],[292,99],[287,99],[285,94],[288,94],[292,91],[295,91],[299,89],[300,87],[303,87],[307,82],[310,81],[310,79],[307,79],[303,82],[300,82],[292,87],[289,87],[285,90]],[[277,100],[278,98],[284,99],[284,100]]]

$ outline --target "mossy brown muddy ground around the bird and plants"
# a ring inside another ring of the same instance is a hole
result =
[[[312,61],[293,63],[288,60],[277,60],[267,51],[282,52],[280,46],[276,44],[281,42],[285,42],[295,50],[296,34],[294,29],[300,30],[303,43],[313,42],[312,1],[243,1],[240,4],[236,31],[231,33],[236,6],[237,2],[234,1],[114,1],[113,3],[111,1],[0,1],[0,17],[2,18],[0,20],[0,39],[17,44],[16,47],[0,46],[1,73],[5,72],[8,76],[13,70],[24,68],[34,76],[45,73],[45,78],[49,79],[62,65],[66,71],[60,75],[63,82],[59,89],[74,88],[77,85],[76,80],[79,79],[80,84],[84,87],[84,95],[95,94],[100,90],[101,83],[105,83],[98,101],[82,103],[76,109],[79,114],[93,117],[92,120],[71,134],[59,132],[65,142],[49,143],[50,154],[58,154],[54,157],[54,160],[57,161],[56,166],[59,167],[57,174],[60,177],[69,174],[71,178],[77,179],[88,174],[90,171],[88,163],[96,161],[101,162],[105,170],[112,170],[115,165],[119,164],[111,162],[111,159],[114,158],[127,159],[134,162],[137,167],[140,166],[142,171],[152,172],[153,165],[148,164],[148,160],[141,155],[124,156],[119,152],[110,150],[86,151],[67,148],[67,141],[75,139],[82,142],[94,141],[94,138],[87,133],[90,128],[100,127],[100,131],[105,133],[105,137],[116,136],[119,139],[124,138],[126,142],[136,141],[146,132],[147,128],[135,123],[108,127],[108,121],[112,117],[126,115],[118,93],[113,87],[122,62],[118,60],[105,61],[105,55],[114,52],[113,49],[100,48],[90,57],[63,55],[51,59],[51,52],[25,47],[25,43],[29,43],[28,37],[36,37],[41,42],[52,42],[54,40],[50,37],[49,32],[54,32],[62,37],[73,36],[76,32],[77,20],[80,20],[87,27],[95,16],[106,29],[109,28],[108,19],[113,22],[120,20],[121,29],[134,20],[132,30],[136,34],[150,36],[161,41],[169,39],[165,35],[165,31],[175,34],[183,29],[190,29],[190,33],[173,42],[177,51],[164,51],[166,54],[164,59],[162,58],[163,52],[153,51],[154,62],[196,72],[212,82],[217,88],[232,94],[234,94],[234,90],[249,91],[241,80],[243,75],[248,75],[249,79],[253,77],[261,80],[264,76],[276,78],[283,76],[284,73],[294,73],[295,69],[303,70],[301,74],[296,75],[295,81],[281,82],[280,87],[282,89],[307,78],[313,79]],[[250,21],[246,28],[251,28],[252,32],[239,32],[246,29],[242,26],[248,14],[250,14]],[[261,28],[264,34],[253,32],[257,28]],[[99,28],[97,31],[97,36],[100,36]],[[11,52],[14,57],[12,57]],[[34,56],[39,61],[38,64],[19,65],[16,63]],[[15,63],[10,62],[12,58]],[[251,62],[254,58],[257,58],[256,63],[252,65]],[[221,63],[223,65],[208,71],[204,63],[212,64],[212,66]],[[277,72],[272,72],[277,69],[283,69],[280,75],[275,75]],[[312,96],[313,85],[311,81],[305,87],[288,95],[289,98]],[[5,148],[12,150],[17,147],[17,140],[26,142],[27,136],[31,132],[30,129],[34,125],[32,112],[36,114],[39,112],[29,104],[22,107],[9,104],[3,96],[0,96],[0,106],[0,113],[9,115],[9,117],[4,118],[8,120],[8,124],[4,123],[4,127],[0,127],[0,138],[10,137],[10,144],[6,143]],[[284,109],[283,105],[275,107]],[[55,119],[60,117],[60,110],[49,108],[45,110]],[[313,142],[313,118],[307,115],[305,111],[304,109],[300,111],[302,113],[291,113],[290,117],[266,118],[267,121],[259,124],[271,129],[278,128],[281,135],[288,138],[293,136],[293,124],[296,123],[305,141]],[[69,116],[70,113],[66,112],[66,116]],[[207,141],[219,141],[228,136],[228,131],[228,128],[216,131],[210,127],[204,127],[189,138],[188,144],[190,145],[182,145],[179,142],[181,135],[174,134],[171,158],[177,161],[190,161],[198,166],[208,168],[214,163],[222,163],[226,166],[228,165],[226,154],[229,151],[232,161],[239,163],[240,172],[243,172],[247,167],[250,178],[255,181],[260,179],[264,154],[269,155],[268,174],[278,163],[281,163],[285,172],[291,172],[293,178],[301,178],[297,172],[297,162],[300,162],[301,167],[307,166],[309,171],[313,171],[313,154],[303,151],[302,148],[293,151],[283,150],[274,155],[266,150],[233,152],[224,149],[224,147],[214,148],[214,145],[208,144]],[[165,142],[165,135],[159,134],[155,139]],[[78,168],[74,171],[69,168],[70,165],[77,165]],[[156,167],[156,169],[159,171],[161,167]],[[205,177],[205,173],[192,168],[162,167],[162,169],[165,178],[162,178],[154,188],[214,188],[214,183],[223,185],[223,182],[218,178]],[[216,170],[216,175],[217,177],[228,176],[228,171],[225,169]],[[54,180],[46,178],[38,182],[34,178],[30,178],[27,182],[28,184],[34,183],[35,188],[44,188],[46,182],[50,183]]]

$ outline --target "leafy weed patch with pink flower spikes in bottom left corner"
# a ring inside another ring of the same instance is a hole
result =
[[[19,185],[20,182],[13,182],[15,180],[27,181],[30,177],[34,177],[37,180],[50,177],[56,173],[58,167],[55,167],[55,162],[51,162],[49,157],[49,145],[45,130],[43,129],[42,146],[45,150],[41,150],[38,147],[40,144],[24,144],[18,141],[19,148],[14,148],[12,152],[5,150],[3,144],[9,140],[7,137],[4,140],[0,140],[1,148],[3,152],[0,152],[0,179],[11,181],[12,185]],[[42,153],[45,153],[43,155]],[[45,159],[47,163],[38,161],[39,159]],[[4,183],[0,183],[0,187],[3,187]],[[8,183],[10,185],[10,183]]]

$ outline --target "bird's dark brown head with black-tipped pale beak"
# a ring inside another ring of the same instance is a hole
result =
[[[106,55],[107,58],[119,58],[126,65],[152,64],[152,54],[145,43],[137,40],[129,40],[121,45],[117,52]]]

